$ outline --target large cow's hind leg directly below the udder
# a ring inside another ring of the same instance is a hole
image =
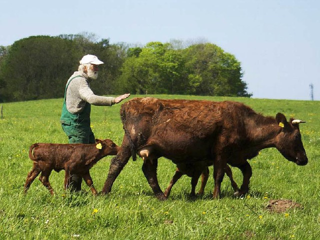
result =
[[[158,159],[145,160],[142,164],[142,171],[150,187],[152,188],[155,197],[159,200],[166,200],[167,197],[163,194],[156,176],[157,165]]]

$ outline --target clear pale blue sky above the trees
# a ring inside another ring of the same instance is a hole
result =
[[[206,40],[241,62],[253,98],[320,100],[319,0],[1,0],[0,45],[31,35]]]

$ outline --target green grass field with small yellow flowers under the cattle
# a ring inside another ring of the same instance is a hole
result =
[[[132,98],[131,96],[130,98]],[[320,108],[319,101],[270,100],[234,97],[156,95],[160,98],[236,100],[263,115],[282,112],[305,120],[300,125],[309,162],[298,166],[276,149],[262,150],[251,159],[250,191],[234,198],[227,177],[222,197],[212,199],[212,167],[205,194],[188,197],[190,178],[183,176],[167,201],[158,201],[142,171],[142,160],[129,160],[112,191],[93,197],[63,190],[64,171],[52,172],[48,190],[35,180],[22,193],[32,162],[28,148],[34,142],[66,143],[59,123],[62,99],[2,103],[0,119],[0,239],[320,239]],[[120,104],[92,106],[91,127],[97,138],[121,144]],[[107,176],[111,156],[101,159],[90,173],[98,191]],[[164,189],[175,165],[160,158],[158,179]],[[240,185],[241,173],[232,168]],[[266,209],[271,199],[289,199],[302,205],[280,213]]]

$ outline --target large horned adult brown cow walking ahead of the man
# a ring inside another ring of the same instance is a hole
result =
[[[265,117],[235,101],[133,98],[121,106],[124,137],[112,159],[102,193],[111,190],[128,159],[148,150],[152,160],[144,160],[142,171],[158,199],[166,199],[159,187],[157,159],[164,156],[175,164],[208,159],[213,162],[213,197],[218,197],[226,164],[238,167],[242,185],[238,195],[249,189],[252,171],[247,159],[267,147],[275,147],[298,165],[308,161],[298,123],[282,113]]]

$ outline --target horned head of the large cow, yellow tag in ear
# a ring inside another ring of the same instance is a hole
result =
[[[305,121],[291,118],[286,121],[282,113],[277,113],[275,119],[281,127],[280,133],[276,137],[275,147],[289,161],[293,161],[298,165],[305,165],[308,162],[305,150],[301,141],[299,123]]]

